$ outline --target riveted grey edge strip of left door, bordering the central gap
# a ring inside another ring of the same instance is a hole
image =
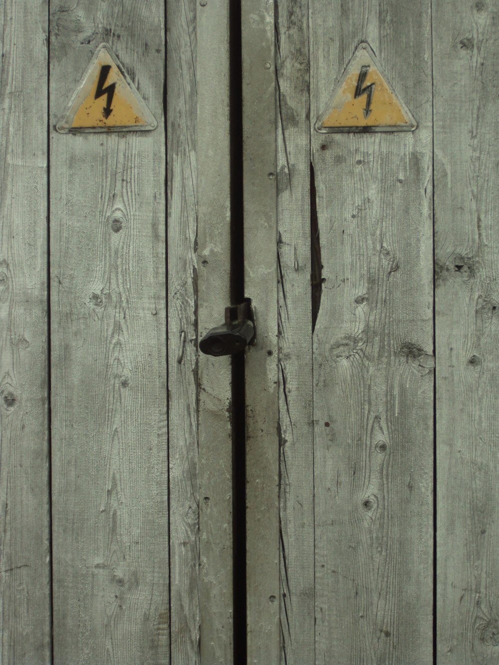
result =
[[[200,338],[230,304],[229,5],[198,5]],[[230,358],[199,354],[198,368],[201,662],[224,665],[233,660]]]

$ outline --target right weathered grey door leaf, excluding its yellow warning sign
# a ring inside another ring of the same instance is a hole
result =
[[[261,512],[248,514],[248,662],[499,662],[498,101],[487,83],[499,7],[265,7],[275,22],[279,414],[257,451],[249,432],[247,456],[251,490],[266,482],[279,517],[262,536],[265,584],[251,546]],[[243,32],[255,35],[254,15]],[[365,42],[416,130],[318,133]],[[256,66],[248,46],[244,76]],[[248,101],[245,122],[253,113]],[[277,449],[278,476],[259,462]],[[262,625],[277,583],[280,611]]]

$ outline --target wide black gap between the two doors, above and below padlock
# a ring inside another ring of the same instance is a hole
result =
[[[230,3],[230,298],[244,300],[241,0]],[[246,398],[244,354],[232,356],[234,663],[246,662]]]

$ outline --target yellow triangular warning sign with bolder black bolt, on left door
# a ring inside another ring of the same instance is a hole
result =
[[[156,128],[150,110],[108,44],[101,44],[57,123],[58,132]]]

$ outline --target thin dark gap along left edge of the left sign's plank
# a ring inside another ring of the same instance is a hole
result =
[[[50,650],[54,662],[54,556],[53,556],[53,505],[52,505],[52,340],[51,340],[51,0],[47,3],[47,421],[49,426],[49,584],[51,599]]]

